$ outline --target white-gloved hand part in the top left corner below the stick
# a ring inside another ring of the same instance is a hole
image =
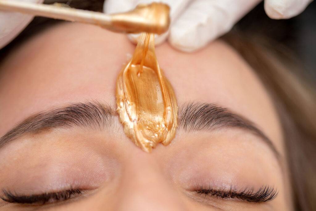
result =
[[[44,0],[20,0],[43,3]],[[32,21],[33,16],[1,11],[0,8],[0,49],[11,42]]]

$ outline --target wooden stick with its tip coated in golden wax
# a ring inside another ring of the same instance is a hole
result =
[[[169,7],[162,3],[142,5],[126,13],[107,15],[101,12],[56,5],[0,0],[0,10],[94,24],[115,32],[149,32],[161,34],[167,31],[169,27]],[[143,12],[144,10],[146,12]],[[144,14],[151,14],[151,17],[158,18],[150,19],[148,16],[144,16]]]

